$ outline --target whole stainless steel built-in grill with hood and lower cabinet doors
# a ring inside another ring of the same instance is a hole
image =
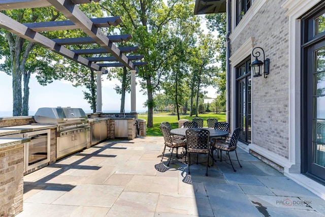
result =
[[[39,108],[38,123],[56,125],[56,158],[62,158],[87,146],[88,117],[81,108]]]

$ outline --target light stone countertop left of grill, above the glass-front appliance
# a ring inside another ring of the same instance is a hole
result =
[[[21,125],[13,127],[0,128],[0,136],[6,136],[17,133],[27,133],[32,131],[55,129],[56,125]]]

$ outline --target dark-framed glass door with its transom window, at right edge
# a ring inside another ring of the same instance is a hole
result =
[[[302,170],[325,180],[325,4],[302,19]]]

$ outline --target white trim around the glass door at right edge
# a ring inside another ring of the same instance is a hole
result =
[[[300,144],[300,108],[301,108],[301,17],[322,0],[287,0],[282,8],[287,9],[286,16],[289,18],[289,163],[286,165],[284,174],[295,180],[303,187],[325,199],[325,187],[301,172],[301,144]]]

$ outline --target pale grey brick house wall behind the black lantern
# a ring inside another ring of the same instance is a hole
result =
[[[252,143],[288,159],[288,18],[281,8],[284,2],[267,1],[232,40],[231,52],[254,37],[254,47],[262,47],[270,58],[268,78],[252,78]]]

